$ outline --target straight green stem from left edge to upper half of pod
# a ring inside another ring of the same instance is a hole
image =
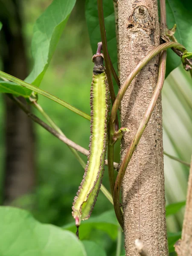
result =
[[[45,97],[47,97],[48,99],[52,99],[54,102],[57,102],[58,104],[64,106],[65,108],[68,108],[69,110],[73,111],[74,113],[78,114],[79,116],[84,117],[87,120],[90,120],[90,116],[87,115],[86,113],[84,113],[83,111],[79,110],[78,108],[75,108],[73,106],[71,106],[70,104],[68,104],[67,102],[64,102],[62,99],[59,99],[58,97],[52,95],[51,93],[48,93],[32,84],[28,84],[25,81],[22,81],[14,76],[11,76],[7,73],[4,73],[3,71],[0,71],[0,76],[2,76],[3,78],[8,79],[9,81],[15,82],[16,84],[20,84],[23,87],[26,87],[36,93],[39,93]]]

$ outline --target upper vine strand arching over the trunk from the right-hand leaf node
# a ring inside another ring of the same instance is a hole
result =
[[[125,95],[127,88],[131,84],[131,81],[133,81],[133,79],[135,78],[135,76],[137,76],[137,74],[140,72],[140,70],[142,70],[143,67],[145,67],[145,65],[148,64],[148,62],[152,58],[154,58],[154,56],[159,54],[161,51],[166,50],[168,48],[172,48],[172,47],[180,49],[182,52],[186,51],[185,47],[183,47],[183,45],[181,45],[179,43],[169,42],[169,43],[161,44],[160,46],[156,47],[151,52],[149,52],[139,62],[139,64],[137,64],[137,66],[134,68],[134,70],[130,73],[128,78],[125,80],[124,84],[122,85],[122,87],[119,90],[119,93],[116,96],[116,99],[115,99],[115,102],[113,104],[112,111],[111,111],[110,125],[111,125],[113,133],[115,132],[115,119],[116,119],[117,110],[119,108],[119,105],[120,105],[120,102],[121,102],[123,96]]]

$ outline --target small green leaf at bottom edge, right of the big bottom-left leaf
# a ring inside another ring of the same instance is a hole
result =
[[[105,250],[103,250],[99,245],[97,245],[95,242],[93,241],[82,241],[87,256],[107,256],[107,254],[105,253]]]

